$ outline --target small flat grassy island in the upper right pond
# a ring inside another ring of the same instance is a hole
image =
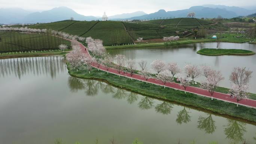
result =
[[[200,55],[210,55],[210,56],[219,56],[219,55],[254,55],[255,52],[244,49],[200,49],[196,53]]]

